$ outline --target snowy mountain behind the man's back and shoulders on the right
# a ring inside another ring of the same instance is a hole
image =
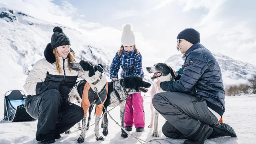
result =
[[[234,60],[220,53],[212,52],[212,54],[220,65],[224,85],[246,83],[248,79],[256,74],[256,66],[252,64]],[[181,54],[176,54],[166,60],[165,63],[174,70],[178,70],[184,61]]]

